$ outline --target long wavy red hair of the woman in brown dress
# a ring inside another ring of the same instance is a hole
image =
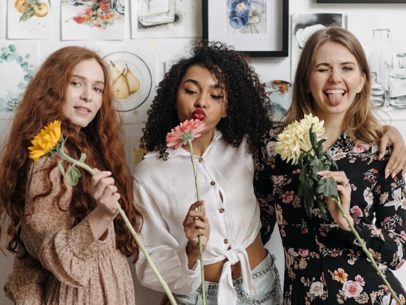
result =
[[[61,109],[74,67],[80,61],[91,59],[96,60],[103,69],[103,102],[93,121],[78,133],[72,123],[63,116]],[[32,162],[28,158],[27,147],[31,146],[33,137],[41,128],[54,120],[62,121],[62,132],[68,137],[65,145],[72,157],[79,158],[80,153],[85,152],[88,156],[86,163],[91,167],[110,170],[113,173],[115,185],[121,195],[120,204],[131,224],[139,231],[142,216],[133,204],[133,183],[125,162],[122,124],[114,110],[113,102],[108,67],[97,53],[84,47],[68,46],[55,51],[29,82],[23,100],[17,107],[0,163],[0,215],[3,215],[4,219],[9,218],[6,245],[9,251],[16,252],[18,244],[21,243],[20,222],[30,215],[30,212],[24,211],[25,184]],[[54,160],[49,172],[57,165],[57,158]],[[75,219],[75,224],[97,205],[90,196],[90,178],[90,174],[82,170],[82,178],[73,188],[69,212]],[[45,183],[47,192],[41,196],[48,195],[52,189],[49,179]],[[66,191],[62,179],[61,185],[62,191],[57,198],[58,206],[59,199]],[[126,256],[134,255],[136,260],[138,247],[120,215],[114,219],[114,229],[117,249]]]

